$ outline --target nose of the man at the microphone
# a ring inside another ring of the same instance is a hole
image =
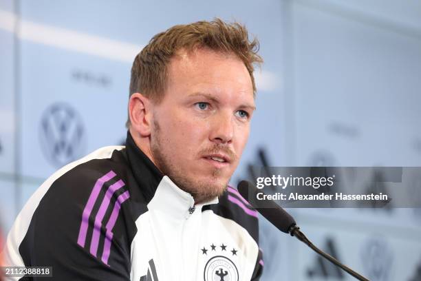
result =
[[[212,131],[210,133],[210,141],[219,144],[229,144],[233,141],[234,123],[231,114],[219,114],[213,118]]]

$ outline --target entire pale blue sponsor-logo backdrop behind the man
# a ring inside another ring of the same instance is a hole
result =
[[[213,17],[246,24],[265,59],[233,185],[250,165],[421,166],[419,1],[0,0],[3,232],[56,169],[123,143],[131,62],[153,34]],[[420,209],[290,211],[370,280],[421,280]],[[263,218],[261,248],[262,280],[352,280]]]

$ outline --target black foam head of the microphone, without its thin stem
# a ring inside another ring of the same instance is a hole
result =
[[[258,200],[257,194],[263,193],[248,180],[241,180],[237,189],[252,207],[282,232],[290,233],[291,227],[296,225],[294,218],[272,200]],[[262,202],[263,201],[263,202]]]

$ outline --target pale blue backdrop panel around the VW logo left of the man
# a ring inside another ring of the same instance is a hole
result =
[[[98,147],[120,144],[126,135],[127,63],[30,42],[23,43],[22,52],[21,173],[24,176],[43,178],[66,164],[66,161],[54,163],[48,156],[59,145],[61,121],[49,123],[54,136],[48,143],[44,139],[46,132],[42,124],[53,118],[49,109],[54,105],[68,107],[76,115],[74,119],[63,120],[62,125],[77,123],[82,128],[80,145],[75,145],[67,163]],[[65,139],[76,136],[72,128],[67,132]]]

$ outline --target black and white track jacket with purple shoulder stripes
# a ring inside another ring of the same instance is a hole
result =
[[[52,267],[10,280],[259,280],[257,212],[237,189],[195,205],[127,134],[56,171],[8,234],[6,265]]]

